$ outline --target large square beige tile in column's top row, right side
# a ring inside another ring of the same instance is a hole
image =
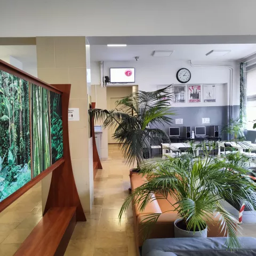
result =
[[[86,68],[85,37],[54,37],[56,67]]]

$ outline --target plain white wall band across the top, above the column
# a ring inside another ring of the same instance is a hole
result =
[[[255,9],[254,0],[1,0],[0,31],[2,37],[255,35]]]

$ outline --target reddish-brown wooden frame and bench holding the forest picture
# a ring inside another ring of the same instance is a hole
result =
[[[77,193],[69,150],[68,103],[71,85],[50,85],[44,83],[2,60],[0,60],[0,70],[62,95],[63,157],[36,175],[35,178],[32,177],[24,186],[0,202],[0,212],[52,172],[51,185],[43,218],[22,243],[15,255],[63,255],[76,221],[86,221]],[[31,113],[29,123],[31,132]],[[30,133],[30,145],[31,141]]]

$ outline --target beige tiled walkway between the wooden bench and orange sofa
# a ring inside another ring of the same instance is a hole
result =
[[[94,179],[94,204],[87,222],[77,223],[65,256],[135,256],[131,207],[118,220],[130,187],[129,167],[116,145],[109,145],[109,159],[102,161]]]

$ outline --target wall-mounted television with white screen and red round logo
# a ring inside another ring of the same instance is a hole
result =
[[[110,68],[110,83],[135,83],[135,68]]]

